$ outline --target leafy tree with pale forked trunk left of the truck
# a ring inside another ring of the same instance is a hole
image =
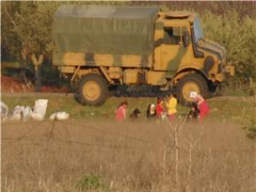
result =
[[[3,2],[2,46],[17,60],[32,61],[36,73],[36,90],[40,91],[40,65],[53,51],[51,26],[57,3]]]

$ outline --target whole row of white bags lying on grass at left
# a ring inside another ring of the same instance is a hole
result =
[[[33,108],[17,105],[12,114],[8,116],[8,105],[1,101],[1,120],[44,120],[47,104],[48,100],[39,99],[35,101]],[[50,116],[49,120],[68,120],[69,116],[66,112],[56,112]]]

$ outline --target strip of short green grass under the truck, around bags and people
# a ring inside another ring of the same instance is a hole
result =
[[[115,110],[122,100],[129,103],[128,114],[136,107],[142,112],[142,119],[145,118],[145,111],[148,104],[156,103],[155,98],[109,98],[100,107],[82,106],[75,102],[72,94],[51,94],[51,93],[9,93],[2,96],[2,100],[8,104],[10,110],[16,105],[33,106],[37,99],[48,99],[46,117],[56,111],[66,111],[71,114],[74,120],[114,120]],[[209,101],[211,107],[211,119],[235,120],[242,122],[246,117],[256,117],[256,97],[216,97]],[[188,107],[178,104],[178,115],[184,115],[189,111]]]

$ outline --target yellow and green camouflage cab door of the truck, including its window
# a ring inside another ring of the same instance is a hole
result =
[[[183,34],[186,27],[164,27],[163,44],[161,45],[161,65],[158,70],[167,71],[167,77],[172,78],[183,65],[191,63],[191,54],[184,46]]]

